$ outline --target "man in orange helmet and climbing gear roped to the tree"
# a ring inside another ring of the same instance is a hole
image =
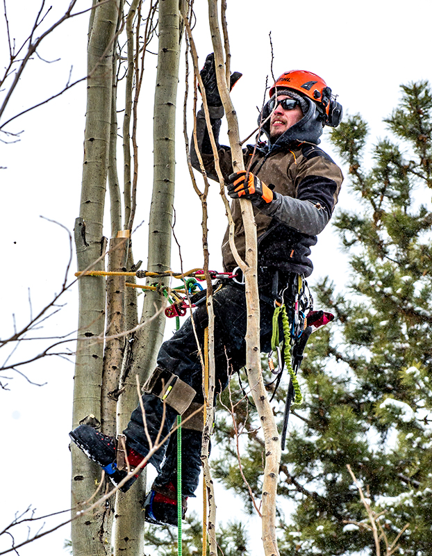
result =
[[[342,172],[322,149],[317,147],[324,125],[337,126],[342,106],[331,89],[317,75],[304,71],[285,72],[270,88],[270,99],[258,118],[265,142],[244,149],[247,172],[233,174],[231,149],[219,145],[219,129],[224,115],[217,90],[215,62],[210,54],[201,70],[210,121],[217,143],[221,170],[228,194],[233,199],[231,211],[235,222],[235,245],[244,259],[244,229],[239,197],[250,199],[258,231],[258,287],[260,292],[260,345],[268,352],[272,337],[274,300],[279,297],[292,306],[293,284],[298,277],[308,277],[313,270],[310,247],[317,234],[329,222],[342,184]],[[241,74],[231,76],[231,85]],[[197,114],[198,146],[208,176],[217,179],[204,111]],[[192,141],[192,165],[199,170]],[[222,244],[224,270],[237,266],[229,247],[229,231]],[[246,299],[240,280],[226,280],[215,288],[215,369],[217,393],[224,390],[231,374],[246,362]],[[208,326],[206,304],[197,306],[194,325],[201,349]],[[201,434],[203,429],[203,386],[197,342],[190,318],[171,339],[163,343],[158,366],[143,386],[147,430],[138,406],[131,415],[126,435],[128,463],[137,466],[149,452],[147,435],[154,443],[160,432],[164,438],[175,425],[182,425],[183,515],[188,496],[194,496],[201,471]],[[165,407],[164,407],[165,405]],[[165,413],[165,418],[163,414]],[[118,484],[126,471],[116,466],[115,439],[88,425],[79,425],[70,433],[72,440]],[[176,502],[176,432],[149,459],[158,470],[145,501],[146,520],[177,524]],[[122,491],[135,482],[136,475]]]

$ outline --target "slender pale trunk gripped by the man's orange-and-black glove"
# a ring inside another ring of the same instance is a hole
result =
[[[222,40],[217,20],[217,1],[208,0],[208,13],[213,49],[215,51],[215,65],[217,85],[228,120],[229,141],[233,158],[233,170],[244,170],[242,147],[238,132],[238,120],[226,83]],[[263,426],[265,440],[265,470],[263,479],[263,546],[265,556],[279,556],[276,539],[276,490],[279,476],[281,447],[279,433],[276,427],[272,407],[269,404],[260,363],[260,306],[257,281],[257,243],[256,224],[251,202],[240,199],[244,235],[246,240],[246,264],[237,261],[244,269],[244,281],[247,301],[247,333],[246,333],[246,370],[249,386],[257,407],[260,423]]]

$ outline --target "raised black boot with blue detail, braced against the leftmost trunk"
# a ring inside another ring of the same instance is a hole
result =
[[[113,436],[108,436],[90,427],[89,425],[79,425],[76,429],[69,432],[72,441],[76,443],[78,448],[83,450],[87,457],[101,466],[103,471],[110,477],[111,482],[117,486],[128,474],[126,470],[117,469],[116,459],[116,440]],[[144,457],[135,450],[127,449],[128,461],[133,468],[137,466]],[[144,466],[145,467],[145,466]],[[120,486],[122,492],[128,491],[133,483],[138,479],[142,469],[136,475],[128,480],[124,485]]]

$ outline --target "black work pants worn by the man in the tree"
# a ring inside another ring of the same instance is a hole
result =
[[[265,288],[260,287],[260,292]],[[269,295],[268,291],[265,291]],[[244,286],[233,282],[222,286],[213,297],[215,311],[215,379],[217,393],[228,385],[232,373],[246,363],[247,312]],[[272,318],[274,306],[271,297],[260,296],[260,345],[262,352],[270,350],[272,340]],[[193,314],[197,336],[203,350],[204,330],[208,326],[206,304],[197,307]],[[185,321],[172,338],[164,342],[158,354],[158,366],[178,375],[196,391],[194,402],[203,403],[202,368],[199,361],[197,341],[190,318]],[[147,430],[154,441],[163,420],[163,402],[151,394],[142,396],[147,420]],[[177,413],[165,404],[165,420],[160,438],[171,430]],[[142,411],[138,406],[131,415],[131,421],[124,431],[128,446],[147,455],[149,444],[142,423]],[[193,496],[197,489],[201,471],[201,432],[182,429],[182,493]],[[159,472],[156,484],[170,480],[176,484],[176,434],[170,436],[149,460]]]

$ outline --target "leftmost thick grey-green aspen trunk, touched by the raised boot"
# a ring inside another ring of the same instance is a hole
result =
[[[111,0],[94,10],[88,42],[88,101],[80,216],[75,225],[78,270],[93,265],[103,270],[105,238],[102,232],[106,194],[110,112],[113,86],[113,42],[119,2]],[[73,426],[88,415],[101,419],[101,383],[105,319],[105,280],[83,277],[78,281],[78,345],[74,377]],[[100,480],[100,468],[72,445],[72,507],[84,502]],[[103,507],[72,521],[74,556],[110,554],[110,508]]]

